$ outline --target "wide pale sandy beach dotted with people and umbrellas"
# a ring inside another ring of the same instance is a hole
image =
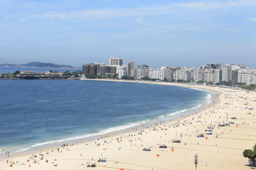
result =
[[[68,143],[17,157],[6,155],[6,158],[0,159],[0,169],[196,169],[196,154],[198,170],[250,169],[250,166],[246,166],[248,159],[242,156],[242,152],[252,149],[256,143],[255,91],[203,85],[154,84],[216,91],[218,97],[213,105],[198,113],[154,127],[144,127],[144,130],[121,135],[112,133],[99,140]],[[219,126],[227,121],[229,126]],[[167,148],[160,148],[160,145]],[[104,161],[98,162],[99,159]],[[96,167],[87,167],[92,164]]]

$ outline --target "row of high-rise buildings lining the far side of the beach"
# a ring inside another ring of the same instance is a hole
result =
[[[166,81],[186,81],[204,82],[208,84],[218,84],[222,81],[233,84],[256,84],[256,69],[249,69],[242,64],[213,64],[208,63],[197,68],[188,67],[160,67],[152,68],[146,64],[134,67],[134,62],[123,64],[121,58],[110,58],[109,63],[82,64],[82,74],[102,75],[118,74],[118,78],[123,76],[134,77],[134,79],[159,79]]]

